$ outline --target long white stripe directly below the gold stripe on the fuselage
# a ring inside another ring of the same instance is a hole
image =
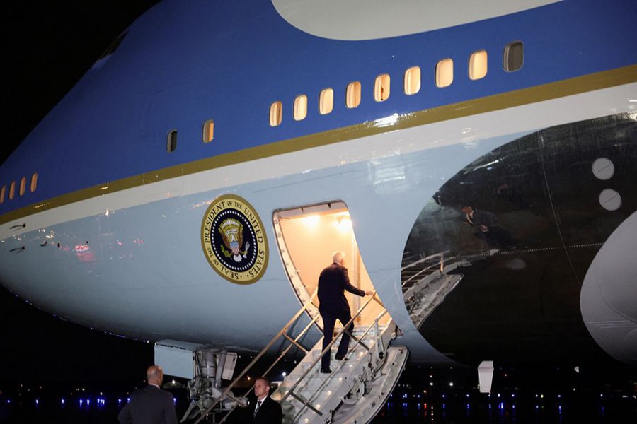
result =
[[[637,104],[631,102],[635,98],[637,98],[637,83],[631,83],[470,117],[450,119],[435,124],[415,126],[410,129],[402,129],[398,133],[388,131],[328,146],[215,168],[193,175],[96,196],[19,218],[2,226],[0,240],[19,235],[21,232],[32,231],[35,228],[46,228],[50,225],[97,216],[176,196],[210,192],[211,190],[328,168],[338,170],[343,165],[455,144],[464,144],[466,148],[472,148],[475,143],[480,143],[481,140],[497,136],[535,131],[549,126],[578,122],[609,114],[635,112]],[[376,124],[377,126],[391,127],[392,122],[396,122],[396,117],[377,119]],[[12,225],[22,225],[23,223],[26,225],[21,230],[8,230]]]

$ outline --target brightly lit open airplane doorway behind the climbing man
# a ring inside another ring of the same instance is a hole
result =
[[[272,219],[287,276],[302,304],[316,292],[321,271],[332,263],[333,253],[337,251],[345,253],[350,283],[361,290],[374,290],[360,256],[350,213],[343,201],[275,211]],[[345,296],[353,317],[364,300],[348,292]],[[309,307],[308,312],[314,318],[319,314],[319,300],[314,298],[313,303],[314,307]],[[382,310],[381,305],[372,302],[356,319],[355,325],[371,325]],[[379,324],[387,324],[390,319],[389,314],[385,314]]]

